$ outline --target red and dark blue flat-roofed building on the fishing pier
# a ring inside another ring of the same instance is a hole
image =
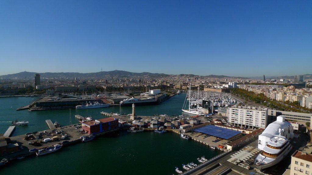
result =
[[[89,134],[99,134],[101,132],[113,130],[118,127],[118,120],[112,117],[82,123],[82,129],[84,129]]]

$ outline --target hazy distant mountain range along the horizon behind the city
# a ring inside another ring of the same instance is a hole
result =
[[[20,73],[13,73],[13,74],[7,74],[7,75],[1,75],[2,78],[34,78],[34,74],[37,74],[36,72],[20,72]],[[127,72],[122,70],[114,70],[114,71],[102,71],[102,72],[95,72],[95,73],[78,73],[78,72],[60,72],[60,73],[51,73],[51,72],[45,72],[45,73],[39,73],[41,77],[44,78],[60,78],[60,77],[68,77],[68,78],[101,78],[101,77],[123,77],[123,78],[131,78],[133,76],[139,76],[139,77],[168,77],[170,74],[165,73],[149,73],[149,72],[142,72],[142,73],[133,73],[133,72]],[[195,77],[198,75],[194,74],[180,74],[180,76],[188,76],[188,77]],[[241,78],[241,79],[262,79],[262,77],[231,77],[231,76],[225,76],[225,75],[207,75],[207,76],[201,76],[206,78]],[[266,77],[266,79],[294,79],[294,76],[271,76]],[[312,78],[312,74],[305,74],[305,79]]]

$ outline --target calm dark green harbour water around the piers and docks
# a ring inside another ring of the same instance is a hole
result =
[[[185,93],[176,95],[156,106],[137,106],[138,115],[181,114]],[[11,121],[29,121],[28,126],[17,126],[13,135],[48,129],[45,120],[57,120],[69,124],[69,110],[16,111],[28,104],[32,97],[0,98],[0,133],[4,133]],[[12,108],[11,108],[12,106]],[[78,123],[74,115],[101,118],[100,112],[131,113],[131,107],[111,106],[100,109],[71,110],[72,123]],[[14,161],[0,169],[0,174],[176,174],[174,167],[197,163],[197,157],[211,158],[220,152],[193,140],[182,139],[175,133],[118,131],[95,138],[87,143],[64,147],[44,156],[27,157]]]

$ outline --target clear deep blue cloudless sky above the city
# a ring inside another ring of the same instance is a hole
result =
[[[312,1],[0,1],[0,75],[312,73]]]

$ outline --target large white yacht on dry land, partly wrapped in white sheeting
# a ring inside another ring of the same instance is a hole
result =
[[[262,151],[255,158],[254,164],[260,170],[279,163],[292,149],[289,139],[294,137],[293,126],[278,116],[277,121],[266,127],[259,135],[258,148]]]

